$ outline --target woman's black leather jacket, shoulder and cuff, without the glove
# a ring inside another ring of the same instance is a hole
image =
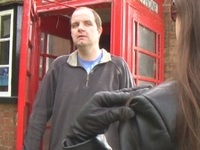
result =
[[[176,83],[163,83],[133,98],[134,118],[120,123],[121,150],[174,150],[177,114]],[[69,150],[108,150],[97,138]],[[114,149],[113,149],[114,150]]]

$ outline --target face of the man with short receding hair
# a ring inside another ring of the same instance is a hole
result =
[[[102,28],[97,29],[94,14],[87,8],[76,10],[71,17],[71,36],[75,46],[92,46],[99,42]]]

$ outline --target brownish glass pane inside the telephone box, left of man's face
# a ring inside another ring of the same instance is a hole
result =
[[[47,53],[60,56],[70,53],[71,43],[68,39],[63,39],[61,37],[49,35],[49,43],[48,43],[48,50]]]

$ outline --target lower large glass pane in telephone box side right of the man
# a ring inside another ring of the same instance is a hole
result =
[[[155,78],[155,58],[140,53],[139,60],[139,75]]]

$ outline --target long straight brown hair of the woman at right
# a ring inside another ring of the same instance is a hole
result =
[[[179,150],[200,150],[200,0],[174,0],[177,9]]]

